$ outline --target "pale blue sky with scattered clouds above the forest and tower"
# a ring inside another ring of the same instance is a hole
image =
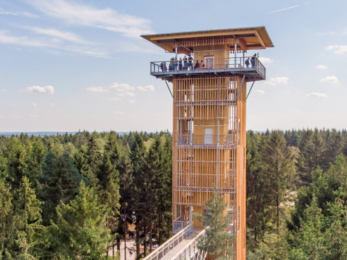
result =
[[[274,47],[259,50],[266,80],[247,98],[247,130],[347,128],[346,11],[346,0],[1,0],[0,132],[171,131],[150,62],[172,54],[139,35],[255,26]]]

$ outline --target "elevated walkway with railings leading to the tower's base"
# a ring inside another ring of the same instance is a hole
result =
[[[204,234],[205,229],[194,228],[191,223],[143,260],[204,260],[206,252],[197,248],[197,237]]]

